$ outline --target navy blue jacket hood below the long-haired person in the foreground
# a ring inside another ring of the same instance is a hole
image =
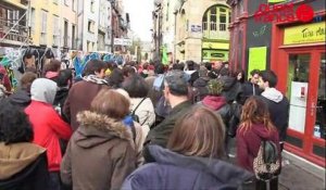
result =
[[[249,179],[253,174],[216,159],[185,156],[159,145],[149,145],[150,154],[160,164],[175,165],[181,168],[203,170],[214,176],[223,183],[233,183],[238,187],[242,181]]]

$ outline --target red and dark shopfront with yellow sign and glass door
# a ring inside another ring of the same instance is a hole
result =
[[[277,89],[290,102],[285,149],[325,167],[325,2],[284,1],[277,4],[278,12],[269,7],[272,11],[264,13],[259,12],[262,4],[273,5],[267,0],[228,0],[228,4],[233,10],[230,67],[276,73]],[[311,17],[306,20],[301,11]]]

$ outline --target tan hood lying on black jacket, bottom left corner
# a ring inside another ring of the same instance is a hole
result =
[[[0,142],[0,180],[22,172],[46,152],[45,148],[29,142],[5,145]]]

